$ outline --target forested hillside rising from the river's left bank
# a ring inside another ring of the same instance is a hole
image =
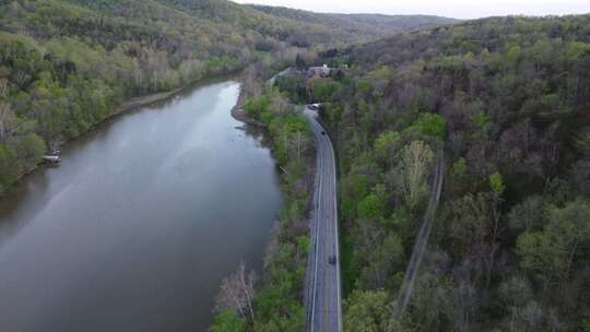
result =
[[[225,0],[0,2],[0,194],[131,96],[379,33]]]

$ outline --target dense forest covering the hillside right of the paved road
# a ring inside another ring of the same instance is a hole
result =
[[[590,331],[590,16],[492,17],[319,56],[350,70],[276,85],[324,103],[345,331]],[[427,251],[394,315],[440,155]]]

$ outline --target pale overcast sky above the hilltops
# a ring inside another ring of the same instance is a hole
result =
[[[590,0],[234,0],[315,12],[430,14],[456,19],[590,13]]]

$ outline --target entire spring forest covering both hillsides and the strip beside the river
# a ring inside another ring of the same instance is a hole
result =
[[[311,102],[338,154],[345,331],[590,331],[590,16],[375,20],[223,0],[4,1],[0,194],[130,97],[251,63],[264,68],[252,81],[329,63],[342,69],[248,92],[286,203],[263,275],[240,265],[222,283],[211,331],[304,330],[314,146],[293,104]],[[426,256],[394,315],[440,155]]]

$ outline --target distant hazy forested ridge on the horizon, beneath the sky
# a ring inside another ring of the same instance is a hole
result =
[[[333,28],[363,35],[388,36],[392,33],[427,28],[459,22],[455,19],[432,15],[382,15],[314,13],[284,7],[252,4],[251,8],[273,16],[322,24]]]

